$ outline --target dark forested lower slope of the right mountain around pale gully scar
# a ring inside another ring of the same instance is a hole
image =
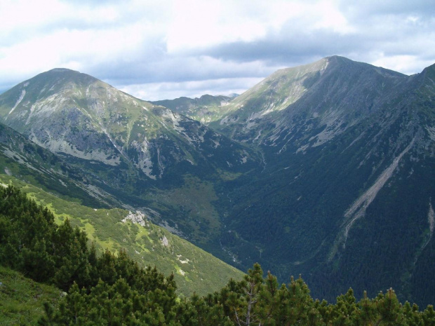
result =
[[[313,296],[328,301],[352,285],[356,293],[367,290],[373,296],[393,287],[401,301],[420,306],[434,303],[435,282],[429,274],[435,266],[435,242],[428,212],[435,198],[435,161],[424,157],[420,149],[403,156],[401,169],[355,221],[345,246],[344,242],[337,245],[344,213],[377,182],[394,158],[393,154],[384,158],[374,172],[371,163],[361,164],[361,158],[375,152],[387,155],[388,142],[375,147],[366,144],[380,132],[399,144],[399,125],[404,121],[401,116],[389,128],[349,128],[346,135],[338,135],[321,151],[314,148],[299,156],[281,154],[281,162],[269,163],[260,177],[232,182],[234,189],[228,187],[228,196],[233,205],[223,223],[232,232],[222,236],[222,245],[241,264],[259,262],[276,271],[281,281],[289,273],[302,273]],[[354,141],[356,135],[361,137]],[[343,151],[351,144],[355,151]],[[272,161],[274,155],[265,151],[266,161]],[[267,173],[268,169],[272,172]],[[221,203],[225,207],[225,199]]]

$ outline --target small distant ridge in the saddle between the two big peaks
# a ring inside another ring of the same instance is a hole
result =
[[[161,100],[151,103],[167,107],[196,121],[201,121],[201,123],[210,123],[219,117],[222,108],[225,108],[237,96],[237,94],[229,96],[202,95],[199,98],[179,97],[175,100]]]

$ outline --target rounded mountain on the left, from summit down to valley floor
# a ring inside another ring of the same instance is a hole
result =
[[[81,170],[93,193],[197,242],[216,242],[220,231],[215,179],[259,160],[197,121],[69,69],[0,95],[0,122]]]

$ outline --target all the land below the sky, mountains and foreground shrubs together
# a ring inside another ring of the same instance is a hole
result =
[[[435,64],[154,102],[55,68],[0,95],[0,324],[435,325],[434,185]]]

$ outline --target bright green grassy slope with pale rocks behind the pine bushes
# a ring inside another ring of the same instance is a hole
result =
[[[156,266],[165,275],[173,273],[179,293],[186,297],[193,292],[208,294],[223,287],[230,278],[238,280],[243,276],[241,271],[152,224],[140,213],[116,208],[88,208],[8,175],[0,175],[0,182],[20,186],[36,203],[48,207],[58,223],[69,219],[72,226],[86,231],[100,250],[125,249],[141,266]]]

